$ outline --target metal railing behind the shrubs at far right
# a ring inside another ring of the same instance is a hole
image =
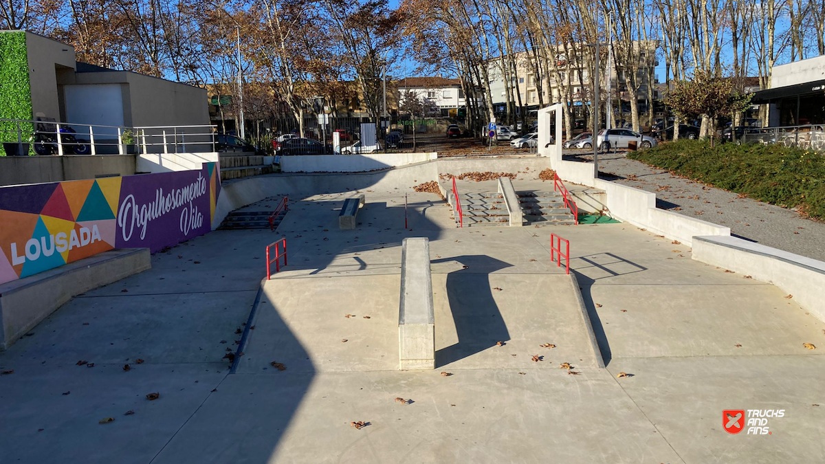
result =
[[[724,139],[738,144],[782,144],[825,153],[825,125],[785,125],[777,127],[735,127]]]

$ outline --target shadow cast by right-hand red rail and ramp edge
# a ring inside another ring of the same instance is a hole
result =
[[[609,260],[609,262],[607,261]],[[587,315],[590,316],[590,323],[593,327],[593,334],[596,336],[596,343],[599,344],[601,357],[605,362],[605,366],[610,364],[612,354],[610,352],[610,342],[605,334],[604,325],[601,324],[601,318],[598,311],[596,311],[596,303],[593,301],[592,286],[596,281],[610,277],[624,276],[633,274],[635,272],[647,271],[639,264],[629,261],[625,258],[620,258],[613,253],[596,253],[588,256],[582,256],[571,259],[570,270],[575,273],[579,288],[582,292],[582,300],[584,301]],[[582,263],[578,263],[582,262]],[[609,268],[612,266],[612,268]],[[621,268],[625,268],[624,270]],[[604,277],[594,277],[593,270],[597,272],[607,272],[608,275]]]

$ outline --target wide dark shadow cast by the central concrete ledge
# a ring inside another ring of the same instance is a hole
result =
[[[467,268],[447,274],[446,291],[458,343],[436,351],[436,367],[459,361],[510,340],[510,332],[493,298],[489,274],[511,265],[486,255],[436,259],[457,261]]]

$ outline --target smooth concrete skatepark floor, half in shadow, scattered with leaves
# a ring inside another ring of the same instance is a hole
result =
[[[825,324],[778,288],[631,225],[455,229],[410,192],[405,229],[403,191],[363,193],[356,230],[337,227],[353,192],[290,195],[276,233],[206,234],[64,305],[0,353],[2,461],[822,460]],[[281,236],[289,264],[261,285]],[[438,367],[399,372],[400,244],[417,236]],[[732,436],[732,409],[785,417]]]

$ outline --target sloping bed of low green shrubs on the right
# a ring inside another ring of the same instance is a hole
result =
[[[678,140],[627,157],[825,219],[825,158],[812,150],[763,144],[710,148],[706,141]]]

